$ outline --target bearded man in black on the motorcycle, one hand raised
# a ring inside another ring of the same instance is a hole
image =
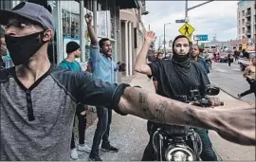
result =
[[[155,76],[158,81],[156,93],[160,96],[184,101],[182,99],[184,97],[188,98],[190,91],[196,89],[204,97],[206,86],[210,84],[210,81],[205,69],[199,63],[192,62],[190,59],[191,47],[192,44],[189,39],[184,35],[179,35],[174,39],[174,56],[172,60],[146,64],[144,53],[139,53],[135,69],[139,73]],[[220,105],[219,99],[210,98],[213,105]],[[166,126],[152,121],[149,122],[150,124],[148,125],[151,127],[148,128],[150,141],[144,151],[142,161],[155,160],[155,150],[152,142],[153,135],[157,128]],[[197,128],[195,131],[200,135],[203,142],[203,152],[200,154],[201,159],[204,161],[216,161],[217,157],[212,150],[208,131]]]

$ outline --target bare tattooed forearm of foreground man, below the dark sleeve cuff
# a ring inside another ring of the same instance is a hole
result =
[[[156,122],[214,130],[225,139],[243,145],[256,144],[254,107],[200,108],[140,88],[127,87],[119,100],[119,110]]]

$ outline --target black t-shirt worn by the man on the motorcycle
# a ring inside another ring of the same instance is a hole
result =
[[[158,81],[157,94],[170,99],[190,96],[190,90],[197,89],[204,96],[206,85],[210,84],[206,71],[199,63],[188,61],[176,63],[164,60],[149,63],[152,76]]]

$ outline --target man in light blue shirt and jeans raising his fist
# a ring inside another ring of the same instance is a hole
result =
[[[85,15],[88,27],[88,34],[91,39],[90,59],[93,64],[92,73],[102,81],[114,83],[114,72],[118,71],[118,64],[112,61],[112,45],[107,38],[102,38],[99,42],[92,27],[92,16]],[[97,107],[98,124],[93,137],[92,151],[89,158],[94,161],[101,161],[99,147],[106,152],[119,152],[119,149],[112,146],[109,142],[109,132],[112,120],[112,110],[105,107]],[[102,140],[102,142],[101,142]]]

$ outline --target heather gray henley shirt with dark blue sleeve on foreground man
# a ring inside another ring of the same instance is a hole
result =
[[[15,69],[0,71],[0,159],[69,160],[76,105],[117,108],[124,88],[84,72],[51,67],[29,89]]]

